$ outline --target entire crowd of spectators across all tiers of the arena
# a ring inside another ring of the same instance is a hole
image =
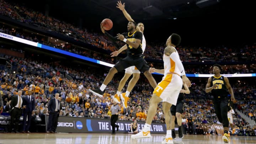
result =
[[[62,33],[98,48],[110,51],[117,50],[114,44],[103,34],[90,32],[87,29],[80,29],[56,18],[44,16],[42,13],[27,9],[24,6],[10,4],[5,0],[0,0],[0,14],[43,29]],[[89,52],[78,47],[72,46],[70,48],[68,45],[64,47],[54,45],[46,42],[46,39],[42,39],[43,37],[32,36],[4,26],[0,26],[0,32],[114,63],[113,59],[109,56],[103,57],[102,54]],[[117,43],[119,47],[122,44],[124,43]],[[148,44],[144,54],[147,58],[162,59],[164,48],[164,44]],[[256,60],[255,46],[245,46],[240,50],[226,47],[211,49],[206,47],[177,47],[177,50],[183,62],[237,62],[238,60]],[[53,67],[47,63],[39,63],[30,59],[14,58],[7,55],[1,56],[9,59],[12,65],[16,65],[18,68],[18,73],[16,74],[10,74],[5,70],[0,71],[1,93],[5,106],[4,112],[8,111],[7,106],[10,103],[11,97],[16,95],[18,90],[23,90],[23,95],[26,95],[27,91],[31,90],[36,99],[37,110],[33,114],[47,115],[48,101],[58,92],[62,101],[60,116],[91,118],[109,118],[111,116],[110,107],[112,105],[112,97],[117,90],[118,78],[114,78],[111,81],[103,97],[99,98],[91,95],[87,91],[88,89],[99,86],[99,82],[103,81],[104,78],[97,73],[91,73],[89,70],[82,68],[69,68],[66,66]],[[187,74],[212,74],[210,67],[192,68],[192,66],[190,67],[188,65],[185,66],[185,69]],[[36,71],[37,73],[32,73],[32,71]],[[256,68],[248,66],[244,66],[241,69],[229,67],[223,71],[225,74],[256,73]],[[68,79],[66,75],[71,76],[72,79]],[[233,84],[232,87],[236,99],[239,101],[234,108],[243,110],[248,116],[255,119],[256,107],[255,101],[252,101],[256,97],[255,85],[241,86],[239,84]],[[213,103],[210,100],[211,96],[206,94],[204,89],[205,84],[194,84],[191,87],[191,94],[185,96],[183,126],[186,128],[188,134],[223,134],[223,127],[218,122],[214,113]],[[145,121],[152,91],[153,89],[146,80],[140,80],[131,92],[128,108],[123,108],[122,104],[120,104],[122,113],[119,115],[119,119]],[[153,119],[154,122],[165,122],[161,108],[162,106],[160,104],[157,114]],[[234,127],[239,129],[238,135],[255,136],[254,130],[256,130],[256,127],[252,129],[246,127],[248,123],[238,114],[234,114],[233,117]]]

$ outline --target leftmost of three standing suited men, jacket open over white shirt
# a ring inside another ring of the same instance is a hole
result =
[[[15,124],[14,132],[18,132],[18,123],[20,121],[20,116],[22,114],[22,108],[26,108],[26,106],[23,106],[23,97],[21,97],[22,91],[18,91],[17,96],[12,96],[11,100],[11,123],[9,127],[9,132],[12,132],[12,127]]]

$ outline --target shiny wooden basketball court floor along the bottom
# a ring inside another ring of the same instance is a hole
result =
[[[150,139],[131,139],[131,134],[107,133],[0,133],[0,144],[161,144],[161,134]],[[178,135],[176,135],[177,137]],[[184,135],[176,144],[225,144],[218,135]],[[256,137],[231,136],[230,144],[256,144]]]

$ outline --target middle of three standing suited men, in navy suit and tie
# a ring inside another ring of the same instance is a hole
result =
[[[23,109],[23,131],[22,133],[30,133],[29,128],[31,124],[31,117],[32,117],[32,112],[35,109],[35,99],[32,96],[32,92],[28,91],[28,95],[23,97],[23,105],[26,106],[26,108]],[[28,124],[26,126],[28,118]]]

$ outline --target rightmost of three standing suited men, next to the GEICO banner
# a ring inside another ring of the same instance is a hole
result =
[[[52,98],[48,103],[48,125],[47,125],[47,133],[55,133],[55,123],[58,122],[57,117],[60,110],[60,101],[58,100],[59,93],[55,94],[55,98]],[[56,122],[57,121],[57,122]]]

